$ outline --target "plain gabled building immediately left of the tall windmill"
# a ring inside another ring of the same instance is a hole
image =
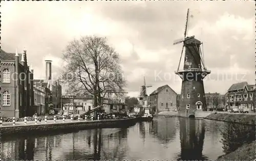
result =
[[[177,109],[177,93],[168,85],[164,85],[150,94],[149,102],[154,112],[174,111]]]

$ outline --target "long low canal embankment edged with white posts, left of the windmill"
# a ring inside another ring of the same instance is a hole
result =
[[[19,133],[40,133],[40,132],[72,132],[82,129],[93,129],[93,128],[119,128],[119,127],[129,127],[135,125],[137,118],[126,118],[126,119],[107,119],[107,120],[48,120],[45,122],[35,123],[34,121],[28,121],[26,124],[24,122],[15,122],[12,125],[10,122],[4,122],[1,125],[2,135],[12,135]]]

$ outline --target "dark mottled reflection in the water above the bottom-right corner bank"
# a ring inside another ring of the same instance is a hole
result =
[[[230,153],[244,143],[255,141],[255,126],[244,126],[237,123],[225,123],[221,129],[223,151]]]

